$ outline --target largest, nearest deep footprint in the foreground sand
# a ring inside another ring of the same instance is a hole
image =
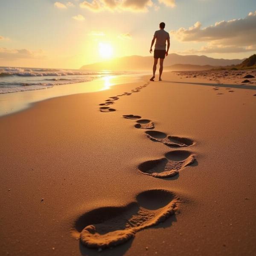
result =
[[[178,202],[177,196],[168,190],[147,190],[126,206],[102,207],[85,213],[75,223],[76,233],[80,233],[81,243],[90,248],[123,244],[138,231],[175,214]]]

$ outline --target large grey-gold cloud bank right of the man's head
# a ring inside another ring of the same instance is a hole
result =
[[[244,19],[216,22],[202,28],[198,21],[189,29],[171,31],[171,35],[183,42],[207,42],[200,52],[243,52],[256,47],[256,11]]]

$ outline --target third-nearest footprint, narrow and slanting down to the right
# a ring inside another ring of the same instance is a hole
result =
[[[167,136],[161,131],[146,131],[145,134],[150,140],[159,141],[171,147],[188,147],[194,144],[193,140],[171,135]]]

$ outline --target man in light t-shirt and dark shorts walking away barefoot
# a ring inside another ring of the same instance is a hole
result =
[[[165,56],[168,56],[169,48],[170,48],[170,35],[168,32],[164,30],[165,23],[160,23],[160,30],[157,30],[154,33],[154,38],[151,42],[150,53],[152,53],[152,47],[154,45],[154,41],[157,39],[154,49],[154,66],[153,66],[153,76],[150,81],[154,81],[156,70],[157,70],[157,61],[160,58],[160,68],[159,68],[159,81],[162,81],[161,76],[163,72],[163,60]],[[166,51],[166,41],[167,41],[167,51]]]

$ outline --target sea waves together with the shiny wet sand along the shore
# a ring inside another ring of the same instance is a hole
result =
[[[145,74],[0,67],[0,117],[23,111],[43,100],[142,81]]]

